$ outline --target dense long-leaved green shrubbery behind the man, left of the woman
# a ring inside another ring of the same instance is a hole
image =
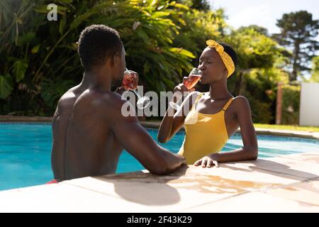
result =
[[[0,1],[0,114],[8,109],[18,111],[15,106],[20,105],[15,101],[19,101],[12,98],[19,94],[28,97],[24,106],[34,109],[37,100],[41,103],[38,106],[43,106],[40,112],[49,110],[51,115],[57,96],[69,89],[67,85],[80,82],[83,70],[77,40],[93,23],[119,31],[128,67],[140,73],[148,89],[171,89],[182,72],[191,69],[194,55],[173,45],[179,25],[184,24],[180,16],[188,10],[182,4],[165,0],[60,0],[55,1],[58,20],[47,21],[50,3]],[[67,83],[59,84],[62,81]]]

